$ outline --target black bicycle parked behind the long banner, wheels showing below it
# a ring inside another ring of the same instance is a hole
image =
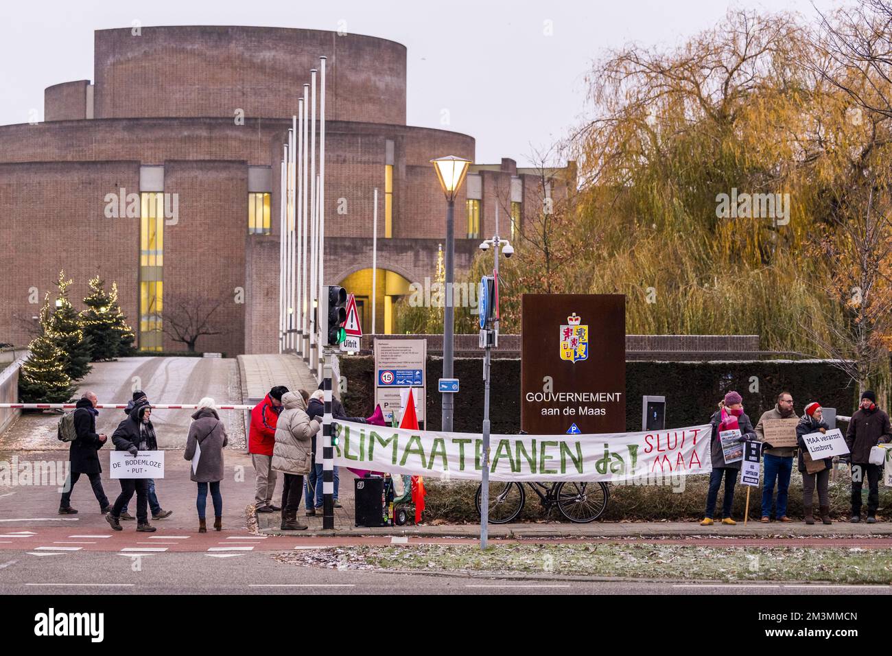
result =
[[[527,483],[539,496],[542,507],[550,511],[554,506],[566,519],[576,524],[588,524],[598,519],[607,509],[610,491],[606,483],[566,481],[548,486],[544,483]],[[477,486],[474,504],[480,514],[480,494],[483,485]],[[544,491],[544,494],[543,494]],[[526,493],[521,483],[490,483],[490,521],[508,524],[524,510]]]

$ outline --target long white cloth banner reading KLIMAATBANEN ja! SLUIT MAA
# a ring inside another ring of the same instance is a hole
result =
[[[336,422],[335,465],[480,480],[483,438],[474,433],[405,430]],[[708,474],[709,425],[638,433],[493,435],[490,479],[622,481]],[[742,453],[742,449],[741,449]]]

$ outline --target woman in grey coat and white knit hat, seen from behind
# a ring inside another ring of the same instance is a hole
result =
[[[204,511],[208,502],[208,486],[214,503],[214,530],[223,528],[223,497],[220,495],[220,481],[223,480],[223,448],[229,442],[226,427],[220,421],[214,400],[205,396],[198,402],[198,410],[192,414],[192,425],[186,438],[186,453],[183,457],[192,461],[190,478],[198,484],[198,532],[207,533]]]

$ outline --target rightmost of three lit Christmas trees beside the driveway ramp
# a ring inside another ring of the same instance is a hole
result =
[[[105,291],[105,281],[99,276],[89,281],[90,294],[84,299],[87,308],[80,312],[84,334],[90,340],[92,360],[114,360],[133,353],[136,336],[118,304],[118,286],[111,284]]]

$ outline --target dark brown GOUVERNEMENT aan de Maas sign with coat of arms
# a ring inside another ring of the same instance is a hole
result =
[[[524,294],[521,428],[625,430],[625,296]]]

